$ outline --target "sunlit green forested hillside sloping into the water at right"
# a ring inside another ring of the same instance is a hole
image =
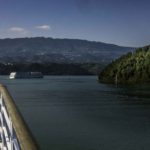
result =
[[[150,46],[113,61],[100,73],[99,80],[121,84],[150,82]]]

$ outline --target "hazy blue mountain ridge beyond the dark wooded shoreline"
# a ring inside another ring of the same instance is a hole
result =
[[[0,62],[109,63],[133,49],[78,39],[0,39]]]

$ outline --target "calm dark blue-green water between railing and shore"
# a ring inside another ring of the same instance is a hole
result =
[[[149,150],[150,85],[47,76],[7,85],[42,150]]]

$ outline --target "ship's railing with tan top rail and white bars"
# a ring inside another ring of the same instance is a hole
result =
[[[38,150],[7,88],[0,84],[0,150]]]

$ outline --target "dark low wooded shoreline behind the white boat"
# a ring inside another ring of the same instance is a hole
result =
[[[99,72],[101,66],[100,64],[0,63],[0,75],[16,71],[39,71],[44,75],[94,75]]]

